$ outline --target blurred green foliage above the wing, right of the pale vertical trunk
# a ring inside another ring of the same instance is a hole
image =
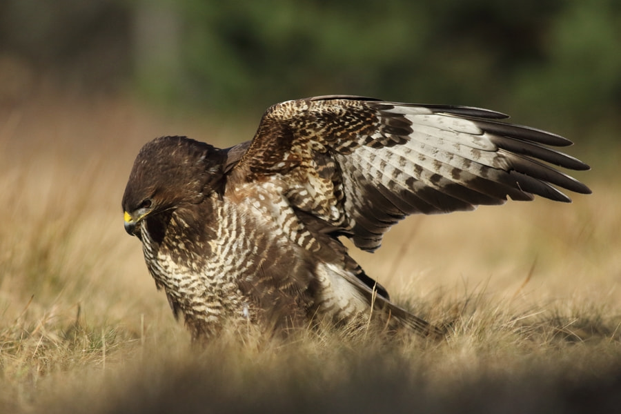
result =
[[[612,0],[177,4],[182,87],[172,89],[212,109],[350,93],[543,112],[582,128],[621,106]]]

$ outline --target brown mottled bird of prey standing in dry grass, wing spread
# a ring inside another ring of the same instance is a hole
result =
[[[438,329],[388,297],[348,255],[407,215],[473,210],[507,196],[589,194],[553,168],[589,166],[571,141],[464,106],[325,96],[277,103],[251,141],[227,149],[160,137],[140,150],[123,196],[125,229],[194,338],[228,322],[266,331],[384,318]],[[382,322],[384,323],[384,322]]]

